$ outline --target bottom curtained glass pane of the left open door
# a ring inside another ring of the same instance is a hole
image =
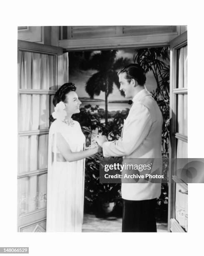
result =
[[[45,208],[47,205],[47,174],[18,179],[19,215]]]

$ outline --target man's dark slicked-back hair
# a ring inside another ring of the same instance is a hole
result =
[[[139,64],[130,64],[119,70],[117,75],[120,73],[126,73],[126,79],[128,82],[131,79],[135,79],[139,85],[144,85],[146,82],[146,75],[144,69]]]

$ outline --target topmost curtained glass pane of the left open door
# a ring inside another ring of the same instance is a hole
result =
[[[54,55],[19,51],[20,89],[54,90]]]

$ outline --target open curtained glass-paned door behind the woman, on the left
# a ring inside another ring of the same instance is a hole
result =
[[[62,74],[62,48],[18,41],[19,232],[46,231],[49,117]]]

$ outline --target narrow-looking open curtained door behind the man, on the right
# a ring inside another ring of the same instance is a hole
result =
[[[168,229],[188,230],[188,185],[177,176],[179,158],[187,158],[187,31],[170,44],[170,120]],[[171,182],[170,182],[171,181]]]

